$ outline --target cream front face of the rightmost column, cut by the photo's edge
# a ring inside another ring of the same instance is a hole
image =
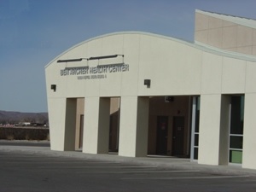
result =
[[[256,93],[245,94],[242,167],[256,169]]]

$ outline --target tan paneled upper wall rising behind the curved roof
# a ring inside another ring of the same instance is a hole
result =
[[[256,29],[195,13],[195,42],[247,55],[256,55]]]

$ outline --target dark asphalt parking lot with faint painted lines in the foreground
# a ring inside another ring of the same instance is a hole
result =
[[[0,172],[0,191],[256,191],[255,175],[136,165],[10,148],[0,149]]]

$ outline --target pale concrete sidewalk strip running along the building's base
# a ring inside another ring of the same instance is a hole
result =
[[[16,141],[14,141],[16,142]],[[10,142],[11,143],[11,142]],[[47,142],[46,142],[47,143]],[[102,160],[112,162],[123,162],[127,164],[143,165],[143,166],[159,166],[164,168],[178,169],[178,170],[198,170],[201,172],[210,172],[212,174],[225,175],[252,175],[256,176],[256,170],[244,169],[241,166],[207,166],[199,165],[196,161],[189,159],[148,155],[148,157],[122,157],[117,154],[84,154],[79,151],[52,151],[49,147],[35,147],[35,146],[20,146],[18,145],[0,145],[0,151],[5,152],[20,152],[24,154],[44,154],[49,156],[64,156],[71,158],[81,158],[88,160]]]

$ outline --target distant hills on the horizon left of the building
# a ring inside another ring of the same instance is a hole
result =
[[[17,124],[20,122],[47,124],[48,113],[22,113],[0,110],[0,124]]]

